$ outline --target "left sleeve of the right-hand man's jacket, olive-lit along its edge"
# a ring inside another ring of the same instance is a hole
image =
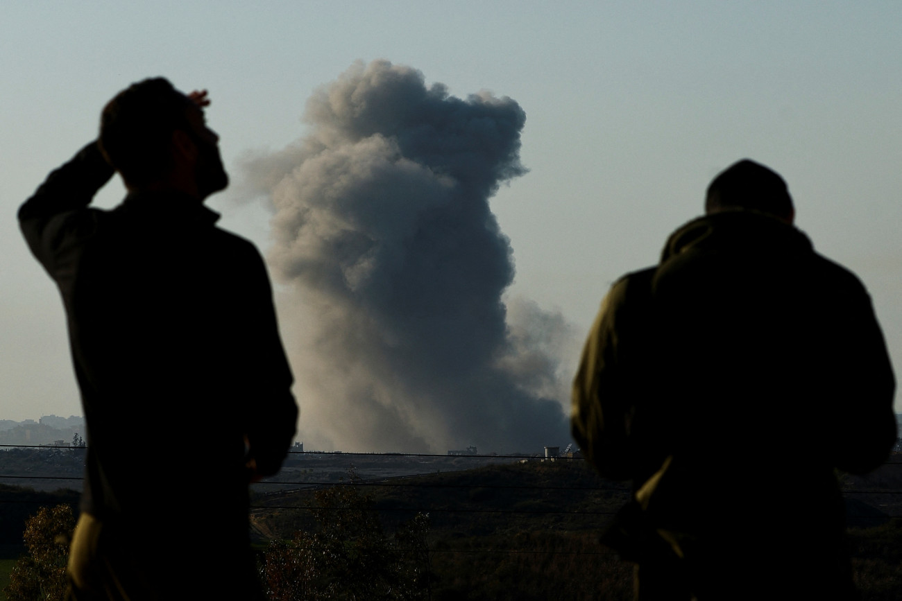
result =
[[[573,384],[571,430],[604,478],[635,478],[632,422],[644,395],[642,354],[653,269],[614,283],[595,320]]]

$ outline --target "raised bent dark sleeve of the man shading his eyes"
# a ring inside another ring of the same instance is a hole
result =
[[[89,235],[94,215],[82,211],[114,170],[91,142],[69,162],[55,169],[19,207],[19,226],[34,256],[51,276],[60,251],[74,239]]]

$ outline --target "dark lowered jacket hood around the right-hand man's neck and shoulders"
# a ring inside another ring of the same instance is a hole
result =
[[[661,263],[687,250],[791,255],[812,252],[814,247],[803,232],[777,217],[730,210],[698,217],[670,234]]]

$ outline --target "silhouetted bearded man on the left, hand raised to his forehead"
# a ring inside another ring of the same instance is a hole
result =
[[[262,598],[248,483],[279,469],[297,405],[260,254],[203,205],[228,183],[207,104],[162,78],[128,87],[19,210],[87,420],[73,599]],[[124,202],[89,207],[114,168]]]

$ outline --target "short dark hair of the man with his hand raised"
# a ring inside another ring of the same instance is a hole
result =
[[[100,115],[100,150],[126,182],[143,186],[171,166],[172,132],[190,131],[190,100],[163,77],[132,84],[109,101]]]

